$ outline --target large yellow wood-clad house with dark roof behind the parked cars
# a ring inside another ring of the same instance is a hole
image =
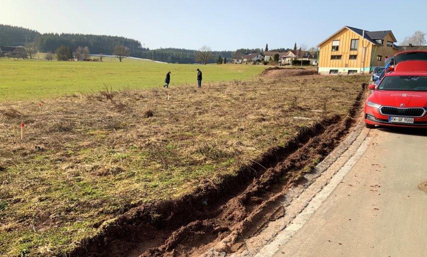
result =
[[[366,31],[349,26],[321,42],[319,74],[369,73],[372,67],[384,66],[384,60],[399,52],[391,30]]]

